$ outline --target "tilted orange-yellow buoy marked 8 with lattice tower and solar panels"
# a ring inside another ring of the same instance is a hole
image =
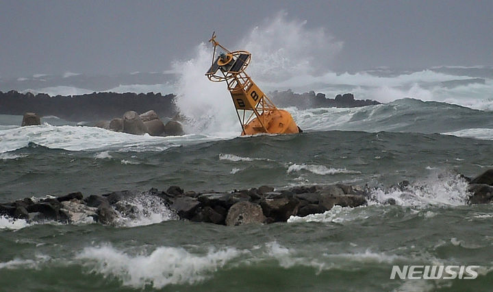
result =
[[[242,127],[242,135],[293,134],[301,130],[286,110],[279,110],[244,72],[251,60],[248,51],[228,51],[216,41],[212,66],[205,73],[212,82],[226,82],[236,114]],[[216,49],[219,47],[219,49]]]

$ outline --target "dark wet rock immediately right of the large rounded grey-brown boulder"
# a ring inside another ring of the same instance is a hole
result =
[[[299,207],[299,199],[295,197],[280,197],[277,199],[263,199],[260,202],[264,215],[275,222],[287,221],[292,215],[296,215]]]

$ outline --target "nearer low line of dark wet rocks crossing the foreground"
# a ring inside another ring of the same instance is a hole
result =
[[[468,180],[470,197],[468,204],[490,204],[493,202],[493,169]],[[403,188],[403,182],[396,187]],[[147,195],[159,199],[178,219],[195,222],[238,226],[249,223],[274,223],[287,221],[291,216],[305,217],[323,213],[333,206],[357,207],[367,204],[370,190],[348,184],[328,186],[296,186],[275,190],[271,186],[260,186],[228,193],[184,191],[179,186],[170,186],[166,191],[151,188],[144,193],[116,191],[103,195],[69,193],[61,197],[33,199],[26,197],[15,202],[0,204],[0,215],[27,221],[60,221],[75,223],[81,217],[92,217],[92,221],[115,225],[118,214],[127,217],[137,210],[128,199]],[[395,204],[392,199],[384,204]]]

